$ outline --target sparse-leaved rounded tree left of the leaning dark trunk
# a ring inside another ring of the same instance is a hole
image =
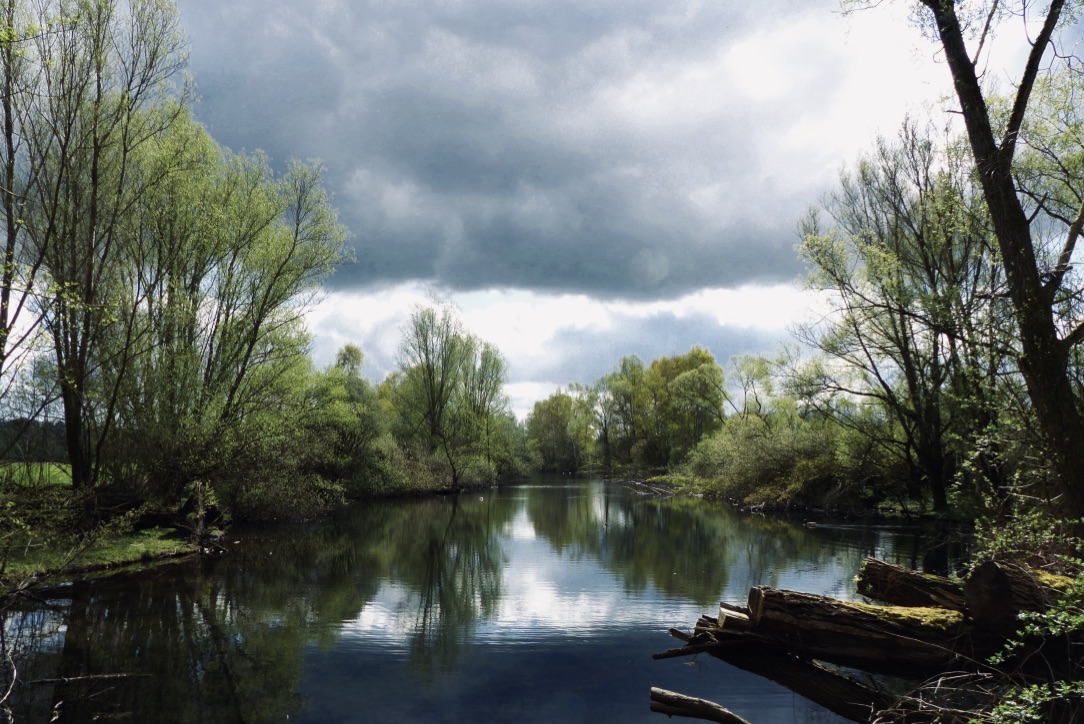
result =
[[[953,146],[939,148],[929,129],[905,121],[895,142],[881,139],[842,174],[825,201],[835,228],[822,230],[812,215],[800,247],[811,286],[833,301],[828,316],[799,333],[829,358],[814,383],[828,395],[805,397],[876,436],[911,469],[913,496],[926,488],[938,510],[962,452],[950,436],[975,437],[991,423],[983,383],[996,384],[1004,365],[1004,333],[986,324],[1001,268],[971,178]],[[899,436],[869,425],[862,405],[870,403]]]

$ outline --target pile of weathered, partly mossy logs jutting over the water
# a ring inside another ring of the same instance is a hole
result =
[[[1017,615],[1046,610],[1068,583],[995,561],[957,581],[867,558],[859,593],[883,605],[757,586],[747,606],[721,604],[719,617],[701,617],[692,634],[671,629],[684,646],[655,658],[710,654],[867,722],[900,707],[901,683],[949,672],[988,675],[986,661],[1016,633]],[[651,689],[651,710],[745,722],[719,704],[663,689]]]

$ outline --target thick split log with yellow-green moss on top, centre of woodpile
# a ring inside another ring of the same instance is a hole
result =
[[[757,586],[749,592],[753,632],[799,657],[873,673],[925,675],[985,659],[999,645],[959,611],[844,603]]]

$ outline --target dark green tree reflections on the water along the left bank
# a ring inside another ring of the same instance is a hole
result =
[[[78,582],[48,606],[2,611],[0,658],[20,662],[13,714],[282,720],[301,707],[306,647],[333,645],[388,580],[409,592],[396,629],[414,664],[448,665],[496,609],[496,533],[515,505],[477,494],[372,505],[337,521],[249,531],[203,568]],[[69,681],[33,683],[61,678]]]

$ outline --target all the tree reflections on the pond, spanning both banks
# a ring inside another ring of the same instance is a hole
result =
[[[401,596],[384,633],[402,637],[416,671],[438,672],[496,612],[502,541],[524,499],[560,555],[597,558],[629,591],[654,586],[704,606],[799,566],[849,578],[863,555],[904,550],[883,533],[805,529],[601,482],[373,504],[336,521],[249,531],[204,568],[82,582],[44,606],[0,611],[0,661],[20,662],[13,713],[48,721],[64,702],[64,721],[282,720],[301,708],[306,649],[334,645],[378,595]],[[132,676],[85,678],[100,674]],[[62,676],[76,681],[30,683]]]

